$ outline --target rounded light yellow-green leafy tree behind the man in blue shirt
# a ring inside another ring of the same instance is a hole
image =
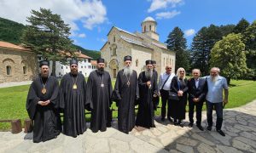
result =
[[[215,43],[211,51],[211,67],[219,67],[221,74],[230,84],[231,78],[238,78],[247,73],[245,44],[241,34],[231,33]]]

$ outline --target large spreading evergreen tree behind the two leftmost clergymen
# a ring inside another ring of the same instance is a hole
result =
[[[32,10],[27,22],[30,25],[23,32],[23,43],[36,54],[42,54],[44,59],[53,61],[52,76],[55,76],[55,61],[63,61],[63,54],[67,52],[73,54],[72,41],[68,38],[70,27],[61,20],[59,14],[52,14],[45,8]]]

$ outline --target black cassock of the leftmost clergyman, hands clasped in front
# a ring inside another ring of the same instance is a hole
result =
[[[32,82],[26,99],[26,111],[33,121],[33,142],[54,139],[61,132],[59,107],[59,83],[55,77],[48,77],[42,94],[43,81],[36,77]],[[50,100],[49,105],[38,105],[38,101]]]

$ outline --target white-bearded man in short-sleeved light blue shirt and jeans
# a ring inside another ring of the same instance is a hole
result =
[[[227,80],[224,77],[218,75],[220,72],[218,67],[212,67],[210,76],[207,76],[207,130],[212,130],[212,110],[213,106],[217,114],[216,131],[225,136],[225,133],[221,130],[223,122],[223,108],[228,103],[229,87]],[[224,99],[223,99],[224,90]]]

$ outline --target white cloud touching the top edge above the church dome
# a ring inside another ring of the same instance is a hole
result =
[[[167,8],[171,6],[175,8],[177,4],[183,4],[183,0],[152,0],[148,13],[154,12],[157,9]]]

